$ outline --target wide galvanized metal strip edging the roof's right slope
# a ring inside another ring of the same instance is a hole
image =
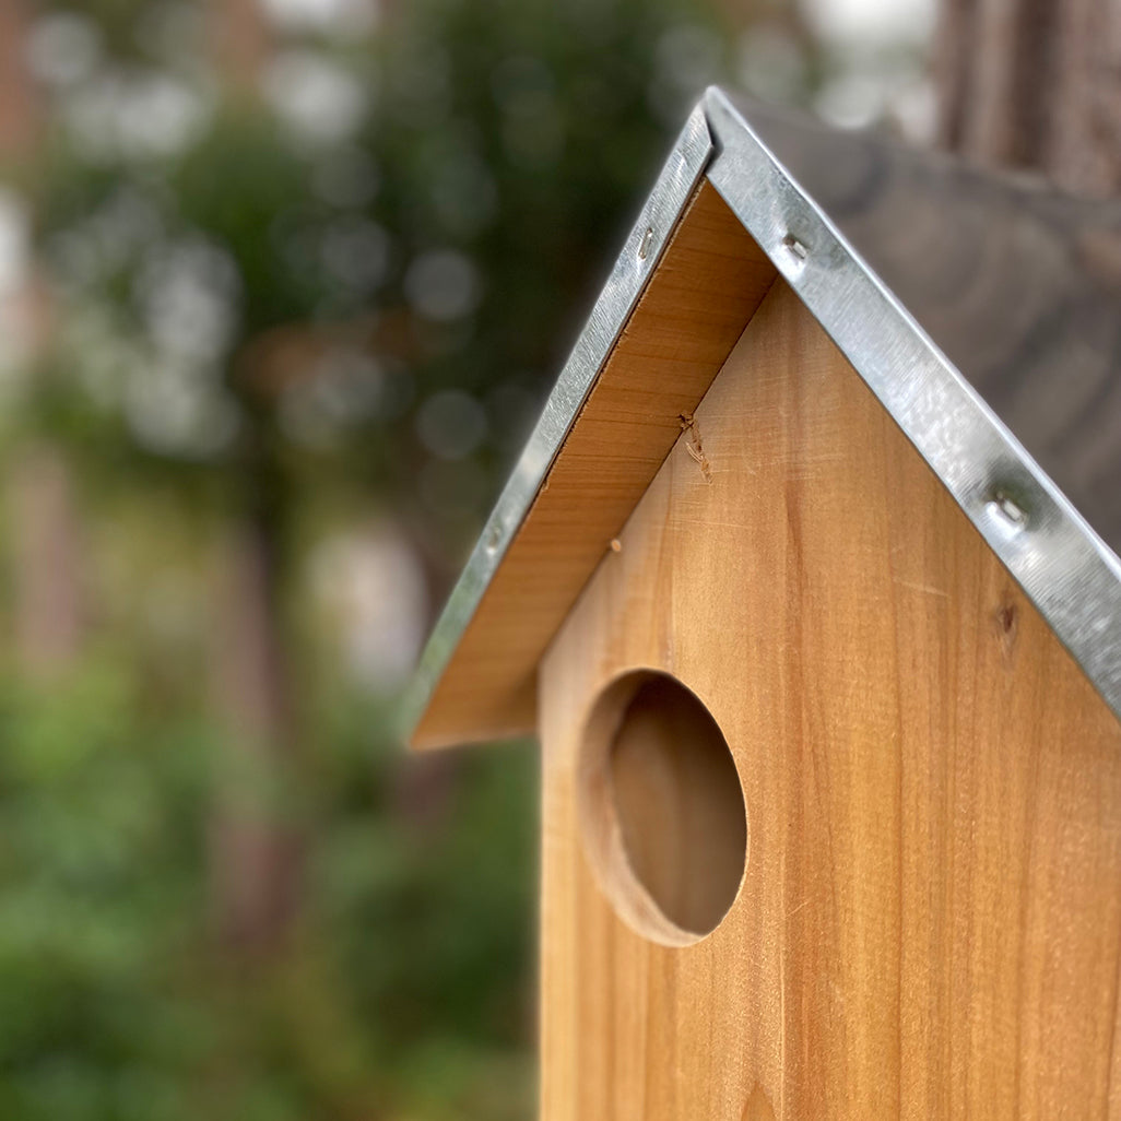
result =
[[[728,96],[708,179],[1121,717],[1121,562]]]

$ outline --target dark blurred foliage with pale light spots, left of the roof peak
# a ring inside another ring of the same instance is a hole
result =
[[[421,0],[364,44],[289,45],[271,100],[215,100],[159,37],[122,37],[160,7],[104,4],[117,84],[100,113],[64,91],[35,183],[71,308],[44,421],[98,464],[223,487],[311,461],[419,510],[454,571],[731,46],[696,0]],[[183,104],[130,130],[159,82]],[[349,123],[316,105],[332,91]]]

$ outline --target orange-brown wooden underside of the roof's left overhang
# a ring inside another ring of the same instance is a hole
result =
[[[773,278],[705,183],[437,684],[415,747],[534,731],[545,647]]]

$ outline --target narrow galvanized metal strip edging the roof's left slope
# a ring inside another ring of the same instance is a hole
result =
[[[704,106],[698,104],[685,122],[623,243],[587,323],[549,393],[545,410],[428,639],[402,704],[401,722],[407,736],[427,707],[491,577],[529,512],[600,370],[654,275],[677,219],[704,175],[712,154],[713,142]]]

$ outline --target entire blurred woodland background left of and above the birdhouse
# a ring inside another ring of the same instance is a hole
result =
[[[427,629],[719,81],[933,0],[0,0],[0,1118],[530,1118],[537,760]]]

